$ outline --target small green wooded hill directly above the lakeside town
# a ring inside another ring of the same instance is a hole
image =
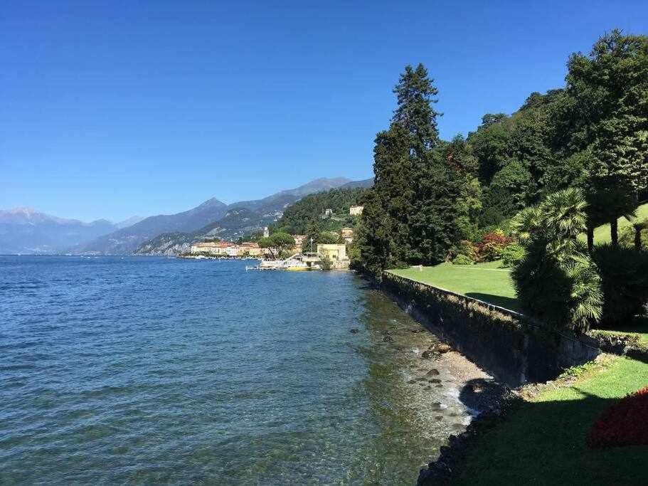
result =
[[[361,204],[367,190],[366,187],[339,188],[306,196],[288,206],[273,229],[304,235],[312,232],[313,226],[318,231],[337,231],[344,226],[353,226],[355,218],[349,216],[349,208]],[[322,218],[326,209],[331,209],[332,214]]]

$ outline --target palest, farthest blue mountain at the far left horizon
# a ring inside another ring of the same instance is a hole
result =
[[[0,210],[0,254],[60,253],[139,221],[142,218],[133,216],[119,223],[105,219],[83,223],[31,208]]]

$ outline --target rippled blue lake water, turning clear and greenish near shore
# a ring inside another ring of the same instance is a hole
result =
[[[0,256],[0,483],[413,484],[468,419],[413,329],[352,273]]]

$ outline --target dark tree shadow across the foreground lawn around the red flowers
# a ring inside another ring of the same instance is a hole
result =
[[[504,418],[478,421],[478,435],[455,463],[459,477],[453,484],[640,484],[648,446],[591,449],[587,443],[593,423],[619,398],[578,385],[573,391],[578,398],[518,400]],[[506,391],[492,381],[471,380],[460,400],[479,409],[485,395],[498,393]]]

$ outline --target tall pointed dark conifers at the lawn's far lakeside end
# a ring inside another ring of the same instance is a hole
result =
[[[455,211],[447,204],[459,194],[459,179],[434,152],[439,144],[432,108],[437,89],[423,65],[408,65],[394,93],[391,126],[376,135],[374,186],[363,212],[361,258],[376,274],[403,262],[445,258],[459,233]]]

